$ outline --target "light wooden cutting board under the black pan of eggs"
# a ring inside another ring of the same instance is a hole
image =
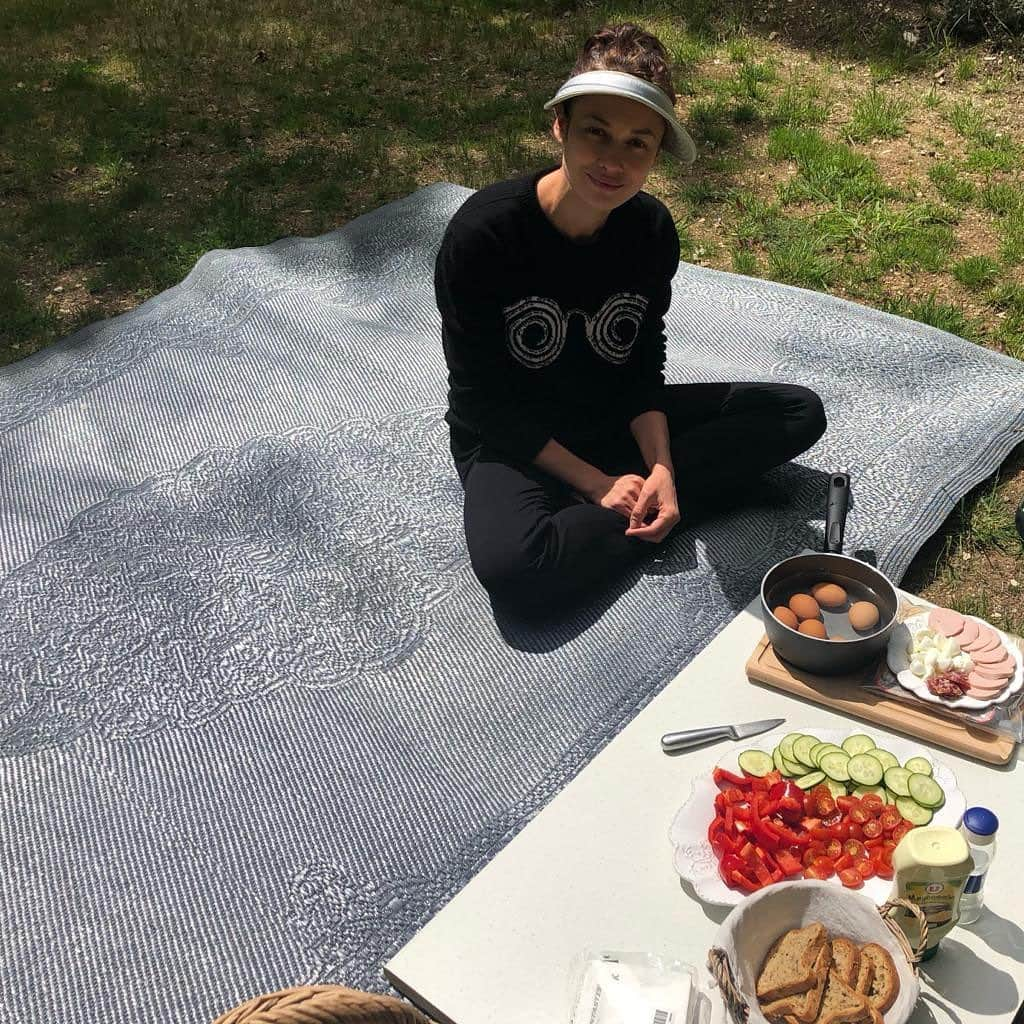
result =
[[[904,606],[900,609],[900,617],[920,607]],[[865,685],[873,680],[878,669],[879,666],[871,663],[847,676],[815,676],[781,662],[771,641],[764,636],[746,663],[746,676],[751,682],[774,686],[844,715],[877,722],[887,729],[916,736],[931,745],[945,746],[988,764],[1004,765],[1014,756],[1017,743],[1009,736],[986,732],[959,720],[940,718],[924,702],[919,708],[871,693]]]

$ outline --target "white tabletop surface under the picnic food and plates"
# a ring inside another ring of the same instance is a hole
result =
[[[567,1024],[569,966],[585,948],[649,950],[703,968],[726,907],[688,894],[668,831],[690,779],[728,750],[662,753],[663,733],[784,717],[785,728],[849,719],[750,683],[764,633],[741,611],[586,768],[385,966],[391,983],[444,1024]],[[861,723],[872,736],[899,735]],[[742,744],[739,744],[740,748]],[[968,806],[999,816],[986,904],[922,965],[912,1024],[1009,1024],[1024,999],[1024,788],[1018,760],[995,768],[937,749]],[[712,994],[713,1021],[725,1019]]]

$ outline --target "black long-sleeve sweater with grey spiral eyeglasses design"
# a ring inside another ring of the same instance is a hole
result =
[[[574,242],[537,199],[553,169],[474,193],[437,254],[457,459],[485,443],[529,461],[551,438],[571,450],[660,408],[672,215],[641,191]]]

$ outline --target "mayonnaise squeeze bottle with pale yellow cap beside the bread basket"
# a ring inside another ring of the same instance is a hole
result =
[[[893,852],[893,897],[916,903],[928,920],[928,945],[922,959],[938,952],[939,940],[956,924],[961,895],[973,868],[967,841],[955,828],[944,825],[910,829]],[[918,919],[901,907],[896,921],[916,948]]]

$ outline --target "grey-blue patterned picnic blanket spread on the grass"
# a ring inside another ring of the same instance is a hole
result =
[[[436,184],[0,371],[0,1022],[205,1022],[381,965],[818,543],[899,578],[1022,439],[1024,365],[683,265],[672,382],[829,429],[563,622],[496,620],[441,419]],[[745,685],[737,674],[737,703]],[[681,723],[671,723],[678,726]]]

